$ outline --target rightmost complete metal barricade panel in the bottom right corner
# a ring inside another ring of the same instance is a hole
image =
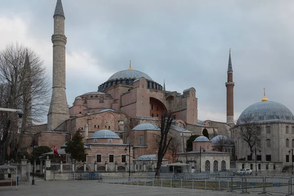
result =
[[[290,194],[291,178],[265,177],[264,193]]]

